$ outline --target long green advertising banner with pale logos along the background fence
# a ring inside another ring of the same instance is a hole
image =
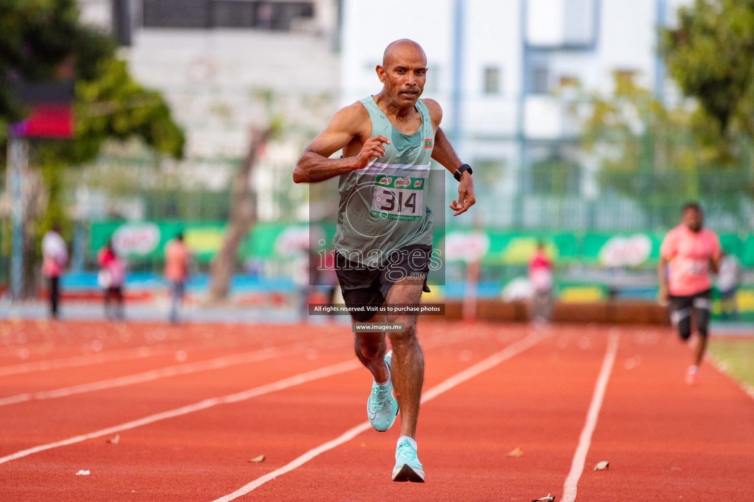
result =
[[[225,236],[225,222],[103,221],[91,224],[90,254],[113,240],[116,251],[130,258],[161,260],[164,246],[182,232],[198,261],[206,262],[219,251]],[[259,223],[241,242],[239,257],[259,260],[286,259],[314,242],[317,248],[330,248],[336,227],[325,224]],[[435,232],[435,242],[443,243],[446,257],[477,260],[490,266],[523,266],[544,242],[547,253],[559,264],[580,262],[607,267],[642,268],[655,266],[660,257],[664,233],[569,233],[516,232],[501,230],[449,230]],[[737,255],[743,266],[754,266],[754,234],[722,234],[720,242]],[[324,244],[321,244],[324,243]]]

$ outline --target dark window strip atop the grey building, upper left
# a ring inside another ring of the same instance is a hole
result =
[[[293,20],[314,17],[314,2],[260,0],[143,0],[151,28],[256,28],[288,31]]]

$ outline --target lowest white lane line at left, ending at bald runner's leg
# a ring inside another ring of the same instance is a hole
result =
[[[44,450],[58,448],[60,446],[72,445],[74,443],[81,443],[81,441],[107,436],[115,432],[127,431],[128,429],[133,429],[134,427],[140,427],[146,424],[152,424],[155,421],[165,420],[166,418],[174,418],[180,415],[198,412],[202,409],[211,408],[219,404],[238,403],[238,401],[261,396],[262,394],[269,394],[270,392],[274,391],[280,391],[285,388],[293,387],[294,385],[301,385],[306,382],[311,382],[312,380],[323,379],[327,376],[338,375],[339,373],[345,373],[347,371],[355,370],[359,367],[361,367],[361,364],[359,363],[359,361],[354,359],[339,364],[322,367],[318,370],[299,373],[298,375],[291,376],[287,379],[278,380],[277,382],[273,382],[271,384],[250,388],[247,391],[241,391],[237,392],[236,394],[229,394],[223,397],[212,397],[210,399],[199,401],[198,403],[181,406],[180,408],[176,409],[170,409],[167,412],[155,413],[155,415],[149,415],[137,420],[127,421],[124,424],[114,425],[112,427],[107,427],[106,429],[100,429],[99,431],[90,432],[89,434],[81,434],[81,436],[69,437],[67,440],[57,441],[55,443],[48,443],[46,445],[35,446],[34,448],[21,450],[20,452],[15,452],[11,455],[0,457],[0,464],[5,464],[5,462],[16,460],[17,458],[26,457],[27,455],[32,455],[33,453],[44,452]]]

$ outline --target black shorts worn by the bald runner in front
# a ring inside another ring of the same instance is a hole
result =
[[[348,260],[342,254],[336,252],[335,270],[345,306],[382,306],[392,285],[413,274],[423,276],[417,280],[422,281],[421,291],[429,293],[427,274],[431,253],[432,246],[424,244],[408,245],[394,251],[388,257],[388,262],[385,265],[371,268]],[[374,317],[374,314],[352,312],[351,316],[358,322],[366,322]]]

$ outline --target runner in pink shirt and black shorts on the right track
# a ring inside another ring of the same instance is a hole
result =
[[[694,311],[699,341],[694,364],[686,373],[686,383],[690,385],[698,381],[699,365],[707,345],[712,306],[710,269],[717,272],[720,259],[720,240],[716,233],[702,227],[703,218],[697,203],[683,207],[682,224],[665,236],[657,267],[660,301],[667,304],[670,300],[670,320],[678,327],[683,340],[691,336],[691,311]]]

